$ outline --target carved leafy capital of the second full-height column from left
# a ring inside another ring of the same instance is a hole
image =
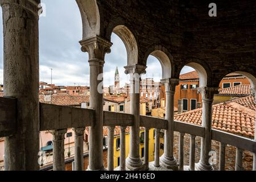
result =
[[[110,47],[113,45],[113,43],[98,35],[86,40],[81,40],[79,43],[82,46],[81,51],[88,52],[89,60],[104,60],[105,54],[111,52]]]

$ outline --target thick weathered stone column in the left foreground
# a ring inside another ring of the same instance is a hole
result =
[[[1,0],[3,96],[17,98],[16,132],[5,138],[5,170],[38,170],[38,3]]]

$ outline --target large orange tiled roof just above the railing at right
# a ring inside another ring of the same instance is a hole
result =
[[[201,117],[202,108],[177,114],[174,119],[176,121],[201,125]],[[213,105],[212,127],[213,129],[254,137],[255,110],[237,104],[236,102],[224,102]]]

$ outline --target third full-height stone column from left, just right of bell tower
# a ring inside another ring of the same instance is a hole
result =
[[[139,124],[140,124],[140,77],[146,73],[146,66],[132,65],[125,67],[126,74],[130,74],[130,112],[134,115],[134,125],[130,127],[130,151],[126,159],[126,167],[131,171],[143,170],[144,165],[139,155]]]

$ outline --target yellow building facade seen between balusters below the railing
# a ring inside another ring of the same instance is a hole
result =
[[[143,134],[144,130],[141,130],[139,132],[141,138],[143,138]],[[164,143],[164,138],[163,135],[160,135],[160,156],[163,154],[163,143]],[[119,135],[114,136],[114,168],[119,166],[119,157],[120,157],[120,148],[118,147],[118,142],[117,140],[120,139]],[[143,140],[140,139],[140,142],[142,142]],[[129,155],[129,143],[130,143],[130,133],[126,133],[125,135],[125,155],[126,158]],[[152,162],[154,161],[154,152],[155,152],[155,138],[154,138],[154,129],[150,129],[149,130],[149,148],[148,148],[148,161]],[[141,158],[143,160],[143,156],[144,156],[144,142],[139,144],[139,155],[141,155]]]

